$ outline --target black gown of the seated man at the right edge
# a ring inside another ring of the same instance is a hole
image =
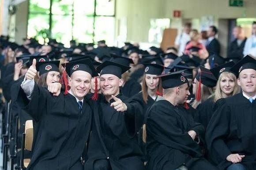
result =
[[[224,170],[232,163],[232,153],[245,155],[242,164],[256,170],[256,101],[251,103],[242,93],[216,102],[218,108],[209,122],[206,142],[211,157]]]

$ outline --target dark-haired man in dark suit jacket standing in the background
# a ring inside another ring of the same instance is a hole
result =
[[[206,49],[209,55],[220,54],[220,43],[215,37],[217,33],[218,33],[218,29],[214,25],[211,25],[207,31],[208,41],[207,41]]]

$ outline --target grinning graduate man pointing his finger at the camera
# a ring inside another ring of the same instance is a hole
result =
[[[97,68],[103,95],[94,102],[86,170],[144,170],[136,136],[142,125],[142,106],[119,92],[121,75],[129,68],[111,61]]]

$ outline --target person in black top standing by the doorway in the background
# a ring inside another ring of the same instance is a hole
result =
[[[245,47],[246,37],[244,35],[243,29],[241,26],[236,26],[233,28],[234,40],[230,43],[228,49],[228,58],[232,60],[239,61],[244,57],[243,51]]]

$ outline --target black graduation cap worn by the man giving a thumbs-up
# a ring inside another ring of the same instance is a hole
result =
[[[94,65],[89,58],[67,62],[62,64],[62,66],[65,68],[68,76],[79,70],[88,72],[92,77],[98,76],[98,72],[94,69]]]

